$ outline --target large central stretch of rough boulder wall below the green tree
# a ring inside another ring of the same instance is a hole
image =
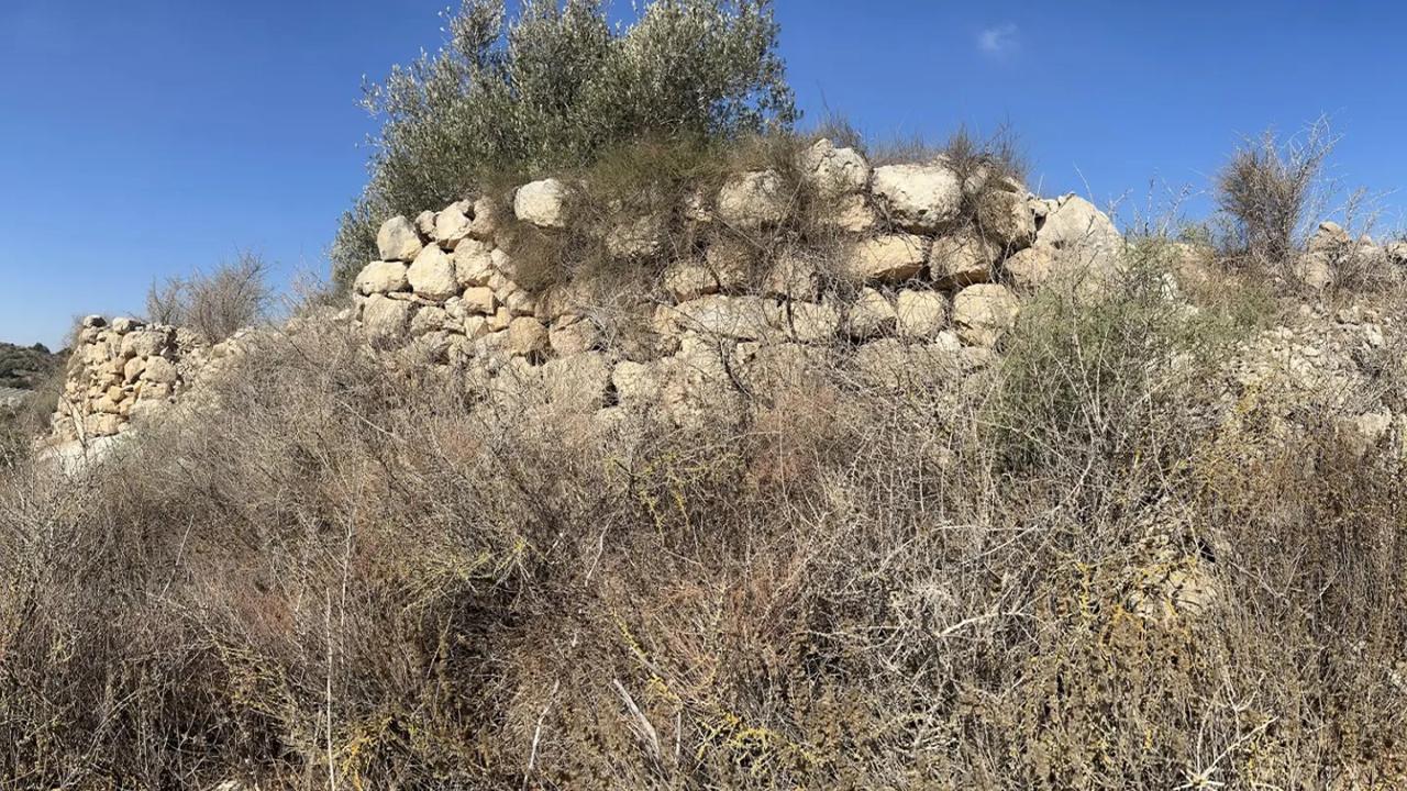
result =
[[[651,400],[688,414],[691,400],[726,397],[729,387],[709,380],[746,388],[758,360],[795,369],[837,346],[861,367],[915,353],[971,367],[1013,325],[1024,291],[1055,276],[1095,281],[1121,260],[1123,238],[1088,201],[1040,198],[986,167],[967,177],[943,158],[871,167],[820,141],[795,170],[803,184],[737,173],[663,217],[601,231],[608,256],[667,262],[626,308],[630,338],[620,301],[591,283],[521,283],[514,229],[561,236],[581,210],[577,187],[557,179],[509,201],[476,197],[388,220],[380,260],[356,277],[355,321],[377,348],[480,377],[584,369],[594,403]],[[785,243],[802,193],[826,207],[819,220],[834,231],[823,256]],[[685,249],[671,232],[689,239]]]

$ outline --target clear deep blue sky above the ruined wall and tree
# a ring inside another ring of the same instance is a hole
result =
[[[450,0],[0,0],[0,339],[139,311],[241,249],[325,270],[364,180],[380,77]],[[457,0],[454,0],[457,1]],[[625,0],[616,0],[626,7]],[[1009,122],[1041,191],[1203,190],[1231,148],[1323,113],[1335,175],[1407,184],[1407,7],[778,0],[801,107],[872,137]],[[1390,215],[1407,205],[1386,197]],[[1204,196],[1188,204],[1207,208]]]

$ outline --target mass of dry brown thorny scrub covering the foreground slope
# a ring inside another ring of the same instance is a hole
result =
[[[1227,429],[1245,329],[1155,274],[1052,290],[993,370],[837,349],[688,429],[270,341],[86,480],[6,472],[0,774],[1400,784],[1400,470],[1332,415]]]

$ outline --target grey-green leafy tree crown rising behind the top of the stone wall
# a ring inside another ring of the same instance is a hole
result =
[[[383,128],[333,242],[339,281],[390,215],[642,137],[727,139],[796,115],[770,0],[654,0],[620,28],[602,0],[526,0],[511,20],[502,0],[466,0],[443,49],[393,69],[364,104]]]

